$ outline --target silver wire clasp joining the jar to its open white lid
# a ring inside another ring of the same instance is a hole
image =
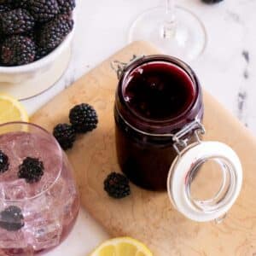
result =
[[[193,122],[189,123],[189,125],[185,125],[182,130],[177,131],[177,133],[173,135],[173,148],[176,150],[177,154],[180,155],[183,148],[188,147],[188,143],[191,137],[189,136],[190,133],[195,135],[197,143],[201,143],[200,134],[205,134],[206,129],[204,125],[201,124],[200,119],[195,118]]]

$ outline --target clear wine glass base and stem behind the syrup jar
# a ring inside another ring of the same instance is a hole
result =
[[[168,55],[192,61],[207,45],[207,33],[201,20],[188,9],[166,0],[165,7],[149,9],[131,26],[129,42],[147,40]]]

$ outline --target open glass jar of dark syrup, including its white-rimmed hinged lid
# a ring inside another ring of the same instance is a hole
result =
[[[188,218],[203,221],[223,215],[241,189],[241,163],[227,145],[201,142],[204,106],[193,70],[167,55],[117,63],[114,118],[122,172],[143,189],[167,189],[174,206]],[[202,176],[206,162],[220,168],[220,188],[211,199],[199,200],[191,188],[200,186],[195,177]],[[199,214],[208,211],[215,213]]]

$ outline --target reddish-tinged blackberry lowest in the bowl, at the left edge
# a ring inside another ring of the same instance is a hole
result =
[[[1,61],[6,66],[20,66],[34,61],[36,46],[31,38],[15,35],[3,41]]]

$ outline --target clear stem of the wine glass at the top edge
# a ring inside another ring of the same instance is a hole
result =
[[[163,38],[172,38],[175,34],[176,19],[175,19],[175,0],[166,0],[166,15],[164,25],[161,29]]]

